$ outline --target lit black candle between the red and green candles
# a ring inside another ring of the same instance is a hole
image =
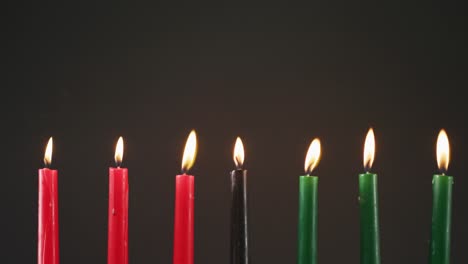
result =
[[[244,146],[237,138],[234,147],[236,169],[231,172],[231,264],[248,264],[248,223],[247,223],[247,171],[244,163]]]

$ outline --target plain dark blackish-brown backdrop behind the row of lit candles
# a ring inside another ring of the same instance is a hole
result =
[[[54,136],[61,262],[105,263],[118,136],[131,263],[171,263],[174,175],[198,132],[195,262],[227,263],[236,136],[254,263],[294,263],[298,176],[322,140],[319,262],[359,263],[357,175],[376,133],[383,263],[426,263],[435,141],[468,262],[465,10],[456,2],[17,2],[2,8],[2,263],[34,263],[37,169]]]

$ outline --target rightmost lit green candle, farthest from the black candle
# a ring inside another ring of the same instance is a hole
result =
[[[453,177],[447,176],[450,146],[447,133],[441,130],[437,138],[437,163],[441,174],[432,179],[431,264],[450,263],[450,224],[452,213]]]

